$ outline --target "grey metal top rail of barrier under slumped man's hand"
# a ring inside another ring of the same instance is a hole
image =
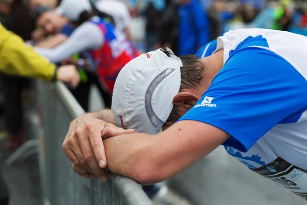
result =
[[[56,92],[62,99],[65,106],[67,106],[72,117],[75,118],[84,113],[82,107],[79,105],[79,103],[72,95],[72,93],[68,90],[68,88],[64,86],[64,84],[57,82],[55,84],[55,87]],[[136,181],[113,173],[109,174],[109,177],[114,183],[120,196],[127,204],[152,205],[151,200],[148,198],[148,196],[142,190],[141,186]]]

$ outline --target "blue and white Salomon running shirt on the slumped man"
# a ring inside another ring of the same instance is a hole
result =
[[[267,166],[270,171],[271,163],[281,164],[277,158],[307,170],[307,37],[240,29],[218,37],[197,54],[206,57],[222,48],[223,68],[180,120],[202,121],[229,133],[223,144],[227,152],[253,170]],[[301,176],[290,171],[292,179]]]

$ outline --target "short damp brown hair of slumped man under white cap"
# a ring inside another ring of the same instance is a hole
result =
[[[170,56],[170,52],[164,51],[164,53]],[[202,79],[204,78],[204,63],[200,61],[198,55],[182,55],[179,57],[182,61],[181,72],[181,84],[179,92],[184,89],[197,90]],[[162,126],[162,130],[167,129],[169,126],[176,122],[180,118],[179,111],[176,106],[170,112],[165,124]]]

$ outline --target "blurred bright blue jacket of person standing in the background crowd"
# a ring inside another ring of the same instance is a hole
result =
[[[209,20],[197,0],[181,0],[179,15],[179,55],[194,54],[209,41]]]

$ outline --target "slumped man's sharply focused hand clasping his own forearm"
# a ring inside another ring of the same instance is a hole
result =
[[[106,115],[103,116],[98,112],[85,113],[72,121],[62,145],[77,174],[86,178],[99,177],[101,181],[107,180],[103,170],[107,161],[102,139],[135,133],[133,129],[124,130],[102,120],[107,120],[109,112],[109,118],[113,119],[111,110],[104,111]]]

